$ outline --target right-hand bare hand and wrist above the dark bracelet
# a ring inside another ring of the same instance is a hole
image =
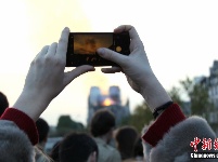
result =
[[[124,72],[130,86],[139,92],[151,110],[171,100],[162,84],[152,71],[142,41],[132,26],[119,26],[114,32],[129,31],[130,54],[129,56],[118,54],[110,49],[98,49],[98,54],[112,60],[120,67],[102,68],[104,73]]]

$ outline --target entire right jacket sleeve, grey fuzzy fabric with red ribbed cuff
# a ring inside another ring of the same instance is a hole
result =
[[[167,108],[149,127],[144,127],[143,139],[144,156],[149,157],[146,161],[150,162],[218,161],[218,157],[196,158],[207,153],[218,156],[218,150],[214,147],[216,134],[205,119],[196,116],[185,118],[177,104]],[[211,139],[211,148],[207,145],[208,139]],[[149,156],[145,154],[148,146],[153,146]]]

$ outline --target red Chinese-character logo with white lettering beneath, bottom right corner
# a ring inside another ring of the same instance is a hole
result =
[[[200,143],[203,144],[202,150],[205,152],[197,152],[197,145]],[[218,159],[218,152],[213,152],[213,150],[218,150],[218,138],[215,138],[213,141],[211,138],[203,138],[201,140],[198,137],[195,137],[194,140],[190,143],[190,146],[194,149],[194,152],[190,153],[192,159]],[[207,152],[207,150],[209,152]]]

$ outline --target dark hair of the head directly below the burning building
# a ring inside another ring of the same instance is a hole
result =
[[[94,137],[104,135],[115,126],[115,117],[110,110],[98,110],[91,119],[90,126],[91,134]]]

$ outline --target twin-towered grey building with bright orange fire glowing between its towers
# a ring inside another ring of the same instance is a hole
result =
[[[120,90],[118,86],[110,86],[108,95],[103,95],[100,87],[92,86],[88,98],[88,119],[89,124],[94,112],[101,108],[111,110],[115,118],[116,123],[120,123],[125,117],[130,116],[129,100],[121,105]]]

